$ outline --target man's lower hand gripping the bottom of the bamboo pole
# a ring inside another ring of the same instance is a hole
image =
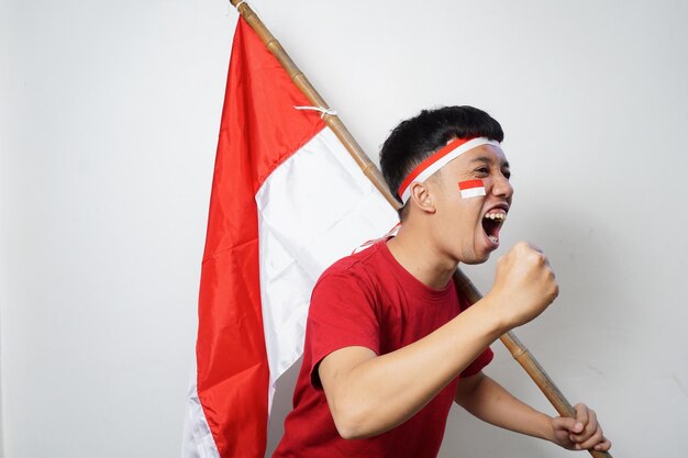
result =
[[[595,411],[585,404],[576,405],[576,417],[557,416],[552,418],[552,442],[569,450],[595,449],[607,451],[611,442],[602,434]]]

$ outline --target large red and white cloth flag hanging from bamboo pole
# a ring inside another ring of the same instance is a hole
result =
[[[182,457],[258,458],[311,290],[396,212],[240,18],[215,159]]]

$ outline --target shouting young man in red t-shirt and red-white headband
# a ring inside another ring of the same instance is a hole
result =
[[[558,293],[526,243],[499,259],[468,308],[452,275],[499,247],[511,205],[501,126],[471,107],[423,111],[395,129],[380,164],[403,208],[395,237],[330,267],[313,290],[303,364],[274,457],[435,457],[452,402],[569,449],[608,450],[595,412],[552,418],[481,369],[489,345]]]

